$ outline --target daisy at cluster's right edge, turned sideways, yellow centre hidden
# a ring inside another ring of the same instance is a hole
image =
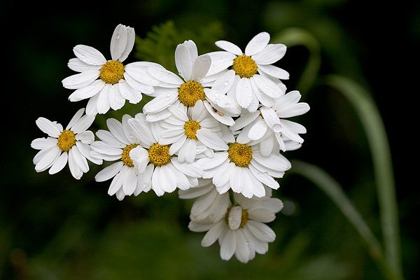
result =
[[[304,134],[307,131],[303,125],[285,118],[300,116],[309,111],[309,104],[299,102],[300,97],[300,92],[297,90],[283,94],[276,99],[273,106],[261,106],[254,113],[245,113],[236,120],[235,125],[232,125],[230,129],[232,131],[241,130],[238,139],[244,143],[265,141],[265,145],[273,146],[268,142],[274,140],[282,151],[295,149],[304,141],[299,134]],[[296,144],[286,146],[293,142]],[[262,148],[265,150],[263,154],[270,153],[269,146]]]

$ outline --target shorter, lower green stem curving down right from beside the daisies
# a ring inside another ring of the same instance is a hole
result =
[[[380,271],[384,274],[386,279],[402,279],[402,277],[396,274],[386,262],[384,254],[382,253],[381,244],[379,244],[379,241],[376,239],[376,237],[374,237],[373,233],[370,231],[370,228],[367,226],[362,216],[360,216],[360,213],[356,210],[355,207],[353,207],[353,204],[351,204],[350,200],[346,197],[346,194],[343,192],[339,183],[337,183],[337,181],[335,181],[335,179],[328,175],[328,173],[323,169],[316,167],[315,165],[311,165],[307,162],[293,160],[292,167],[293,168],[290,169],[290,172],[300,174],[301,176],[307,178],[309,181],[315,183],[315,185],[323,190],[325,195],[328,195],[332,202],[337,205],[338,209],[342,211],[342,214],[353,225],[353,227],[359,233],[360,237],[362,237],[363,241],[365,241],[370,255],[377,263]]]

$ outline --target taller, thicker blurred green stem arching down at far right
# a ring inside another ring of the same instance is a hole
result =
[[[390,268],[402,278],[400,233],[395,182],[388,137],[380,113],[370,94],[349,78],[329,75],[325,83],[342,92],[356,109],[370,146],[377,186],[385,258]]]

